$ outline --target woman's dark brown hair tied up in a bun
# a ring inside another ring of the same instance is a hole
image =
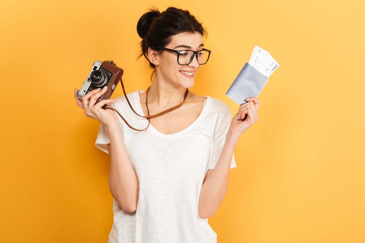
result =
[[[203,37],[207,37],[208,32],[202,24],[191,15],[188,10],[175,7],[168,7],[164,12],[157,8],[150,8],[139,18],[137,23],[137,32],[142,38],[141,52],[137,60],[143,55],[149,61],[150,67],[153,68],[152,77],[156,71],[155,64],[147,58],[148,48],[153,46],[165,47],[171,42],[171,36],[182,32],[199,32]],[[157,51],[157,50],[156,50]]]

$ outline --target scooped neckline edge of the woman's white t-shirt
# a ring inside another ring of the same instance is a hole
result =
[[[139,100],[139,94],[142,94],[143,90],[139,89],[137,91],[134,92],[134,101],[136,102],[136,106],[138,109],[138,113],[140,115],[144,115],[143,110],[142,110],[142,106],[141,106],[141,102]],[[195,126],[197,126],[200,122],[201,119],[203,119],[205,113],[207,113],[207,110],[209,109],[210,106],[210,97],[208,95],[204,95],[202,97],[206,97],[207,100],[205,101],[205,105],[203,106],[203,110],[200,112],[199,116],[195,119],[195,121],[193,121],[193,123],[188,126],[187,128],[177,132],[177,133],[173,133],[173,134],[164,134],[159,132],[157,129],[155,129],[151,124],[149,125],[149,127],[146,129],[146,131],[150,130],[151,132],[153,132],[154,134],[156,134],[159,137],[165,137],[165,138],[171,138],[171,137],[177,137],[180,136],[186,132],[188,132],[189,130],[193,129]],[[148,119],[147,118],[143,118],[142,121],[144,126],[148,125]]]

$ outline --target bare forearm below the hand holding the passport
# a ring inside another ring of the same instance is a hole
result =
[[[198,203],[198,211],[204,217],[210,217],[217,211],[227,193],[228,176],[234,148],[238,139],[227,133],[219,159],[211,175],[204,181]]]

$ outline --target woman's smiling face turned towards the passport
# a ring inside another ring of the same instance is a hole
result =
[[[176,51],[180,50],[203,50],[203,39],[199,32],[194,34],[184,32],[172,36],[171,42],[166,48]],[[180,57],[182,58],[182,57]],[[179,58],[179,60],[180,60]],[[189,59],[189,58],[188,58]],[[188,65],[180,65],[177,62],[177,53],[163,50],[161,55],[155,55],[154,62],[156,66],[156,77],[176,86],[190,88],[194,85],[195,75],[200,67],[194,56],[192,62]],[[193,73],[187,75],[181,71]]]

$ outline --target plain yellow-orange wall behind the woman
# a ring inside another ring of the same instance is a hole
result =
[[[107,242],[109,156],[73,98],[114,60],[146,90],[136,26],[151,6],[188,9],[212,50],[190,89],[225,92],[255,45],[280,67],[236,148],[219,243],[365,242],[364,1],[1,1],[0,242]],[[123,95],[122,87],[113,97]]]

